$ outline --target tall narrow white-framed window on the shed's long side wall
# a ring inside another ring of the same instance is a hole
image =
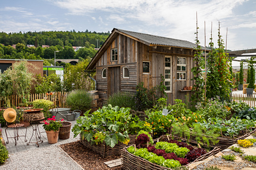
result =
[[[171,93],[171,56],[165,56],[164,85],[165,93]]]

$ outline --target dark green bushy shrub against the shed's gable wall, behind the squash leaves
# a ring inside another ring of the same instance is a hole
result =
[[[108,99],[107,99],[107,105],[112,105],[112,106],[119,106],[120,108],[132,108],[134,109],[135,106],[135,100],[133,98],[132,93],[128,92],[118,92],[112,94]]]

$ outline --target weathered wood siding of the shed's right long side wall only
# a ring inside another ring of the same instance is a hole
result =
[[[162,47],[158,46],[155,48],[147,46],[146,44],[138,44],[138,62],[137,62],[137,73],[138,82],[144,82],[144,87],[152,88],[156,85],[160,85],[161,74],[164,76],[165,71],[165,56],[171,56],[172,59],[172,70],[171,70],[171,93],[167,93],[167,103],[174,104],[175,99],[181,99],[185,102],[186,98],[191,98],[191,91],[180,92],[179,89],[184,87],[193,86],[193,73],[191,68],[194,67],[193,51],[191,49],[181,49],[174,47]],[[177,80],[177,56],[187,58],[187,79]],[[150,73],[142,73],[142,62],[150,61]],[[187,96],[187,97],[186,97]]]

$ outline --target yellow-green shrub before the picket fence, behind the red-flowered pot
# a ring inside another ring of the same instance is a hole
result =
[[[50,118],[49,109],[53,108],[53,102],[45,99],[36,99],[33,101],[34,109],[43,109],[43,115],[45,118]]]

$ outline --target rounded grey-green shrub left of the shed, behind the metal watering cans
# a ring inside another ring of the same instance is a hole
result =
[[[66,97],[66,104],[70,106],[72,110],[88,111],[88,109],[91,108],[91,103],[92,97],[85,90],[72,91]]]

